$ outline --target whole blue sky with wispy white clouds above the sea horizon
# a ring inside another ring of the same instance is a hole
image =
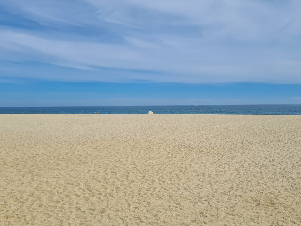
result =
[[[0,106],[301,104],[299,0],[0,1]]]

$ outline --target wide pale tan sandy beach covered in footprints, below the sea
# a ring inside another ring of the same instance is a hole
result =
[[[301,116],[0,114],[0,137],[0,225],[301,225]]]

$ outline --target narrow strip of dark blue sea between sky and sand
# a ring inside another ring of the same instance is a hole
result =
[[[301,115],[301,105],[193,105],[193,106],[85,106],[85,107],[0,107],[0,114],[216,114],[216,115]]]

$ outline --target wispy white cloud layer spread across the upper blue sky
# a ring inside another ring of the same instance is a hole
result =
[[[2,6],[43,27],[1,26],[0,59],[83,71],[61,74],[63,80],[301,83],[297,0],[14,0]],[[158,74],[85,73],[95,67]]]

